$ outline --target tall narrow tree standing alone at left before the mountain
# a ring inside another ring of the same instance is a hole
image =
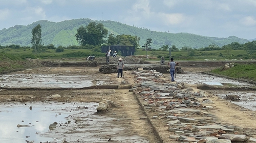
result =
[[[31,44],[33,48],[34,53],[39,53],[41,51],[42,47],[42,39],[41,39],[41,25],[38,24],[35,26],[32,30],[32,39],[31,39]]]

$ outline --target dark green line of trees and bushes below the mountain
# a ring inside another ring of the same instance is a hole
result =
[[[134,46],[136,49],[140,47],[139,40],[140,37],[138,36],[131,36],[131,35],[114,35],[109,34],[108,30],[104,28],[102,23],[90,22],[87,26],[80,26],[77,29],[77,33],[75,34],[76,40],[79,43],[79,46],[70,45],[67,47],[58,46],[55,47],[53,44],[44,45],[41,39],[41,26],[40,24],[36,25],[32,32],[31,44],[33,53],[40,53],[41,51],[46,51],[47,49],[55,49],[56,52],[62,52],[65,49],[92,49],[92,51],[101,52],[100,47],[101,45],[121,45],[121,46]],[[150,43],[148,43],[150,40]],[[153,43],[151,38],[147,39],[147,42],[144,46],[148,47],[150,44]],[[1,46],[0,48],[29,48],[27,46],[21,47],[19,45],[7,45]],[[247,42],[244,44],[240,44],[238,42],[232,42],[230,44],[224,45],[222,47],[218,46],[215,43],[208,45],[207,47],[201,48],[190,48],[187,46],[178,49],[175,45],[169,47],[168,44],[163,45],[159,49],[151,49],[151,50],[158,50],[158,51],[168,51],[171,49],[172,51],[188,51],[191,56],[195,54],[195,51],[210,51],[210,50],[238,50],[242,49],[248,52],[248,54],[253,54],[256,52],[256,41]]]

